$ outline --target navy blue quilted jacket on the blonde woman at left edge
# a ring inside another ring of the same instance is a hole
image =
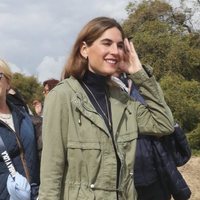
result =
[[[25,160],[29,169],[31,183],[39,184],[39,165],[38,155],[36,151],[35,134],[32,121],[28,114],[19,110],[16,106],[8,103],[12,112],[14,126],[19,134],[20,141],[25,152]],[[0,120],[0,134],[10,155],[15,169],[24,177],[26,177],[24,168],[20,159],[20,149],[16,141],[14,131]],[[0,200],[9,200],[6,183],[9,175],[8,169],[0,157]]]

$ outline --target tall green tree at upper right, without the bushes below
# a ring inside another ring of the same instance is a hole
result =
[[[141,61],[154,67],[157,79],[172,71],[200,80],[200,33],[188,31],[185,13],[158,0],[129,3],[127,12],[123,28]]]

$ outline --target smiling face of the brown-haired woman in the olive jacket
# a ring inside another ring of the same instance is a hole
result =
[[[82,55],[88,58],[89,70],[108,76],[116,72],[123,58],[124,42],[116,27],[107,29],[91,46],[83,44]]]

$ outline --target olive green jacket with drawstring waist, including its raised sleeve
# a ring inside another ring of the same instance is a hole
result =
[[[80,83],[70,77],[47,96],[44,106],[40,200],[137,199],[133,165],[138,133],[166,135],[174,122],[162,91],[144,70],[130,75],[144,106],[109,86],[113,138]],[[117,160],[120,158],[117,188]]]

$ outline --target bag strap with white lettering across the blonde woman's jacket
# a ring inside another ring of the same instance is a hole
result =
[[[15,180],[16,170],[12,163],[12,160],[10,159],[10,156],[7,152],[6,146],[3,142],[1,135],[0,135],[0,154],[3,158],[3,161],[6,164],[6,167],[8,168],[8,171],[9,171],[11,177],[13,178],[13,180]]]

